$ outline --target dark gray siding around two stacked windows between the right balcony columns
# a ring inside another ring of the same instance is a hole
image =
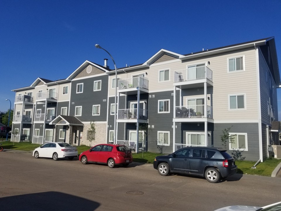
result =
[[[151,98],[148,98],[148,120],[150,128],[148,128],[148,151],[160,152],[157,146],[158,131],[170,132],[170,145],[163,146],[163,153],[167,154],[173,151],[173,100],[172,91],[149,93]],[[154,95],[154,98],[153,98]],[[158,113],[158,100],[170,100],[169,113]],[[154,128],[152,128],[154,125]]]

